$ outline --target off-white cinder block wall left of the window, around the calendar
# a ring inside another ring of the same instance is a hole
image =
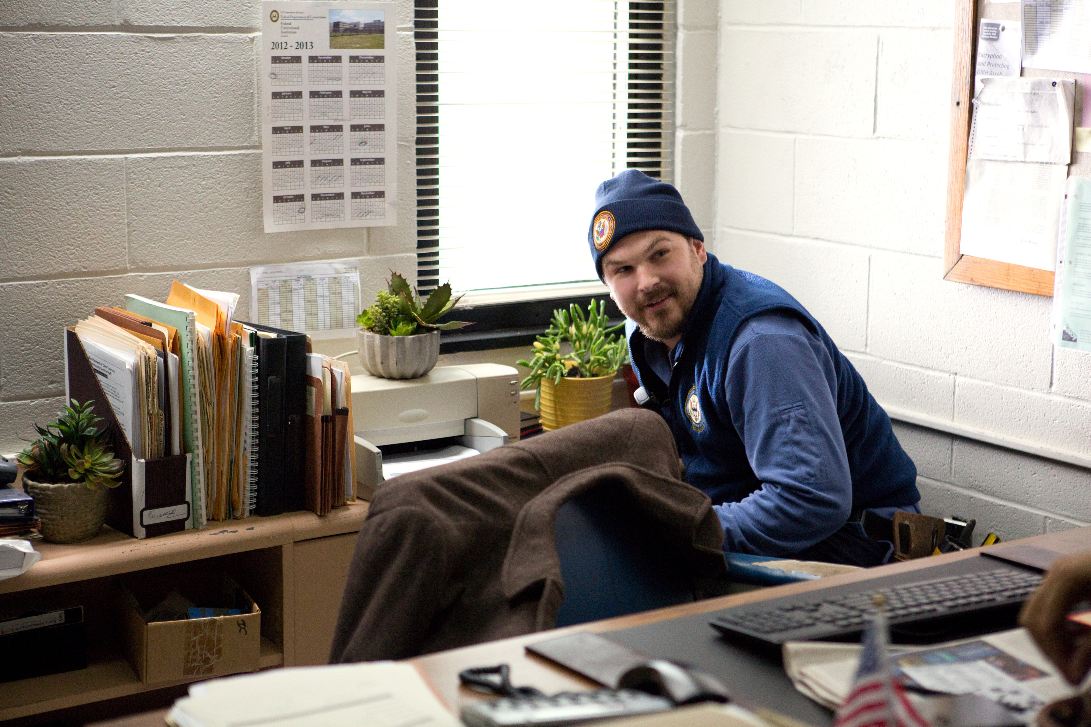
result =
[[[165,300],[177,278],[239,293],[245,319],[251,265],[360,258],[364,300],[389,268],[416,277],[398,5],[398,226],[265,234],[260,2],[0,3],[0,452],[62,404],[63,326],[124,293]]]

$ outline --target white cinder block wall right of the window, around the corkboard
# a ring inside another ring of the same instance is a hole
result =
[[[1091,453],[1091,356],[1052,349],[1051,300],[943,280],[952,3],[720,0],[719,11],[704,65],[718,76],[720,258],[793,293],[880,403]],[[1086,469],[896,432],[926,513],[976,518],[979,537],[1091,522]]]

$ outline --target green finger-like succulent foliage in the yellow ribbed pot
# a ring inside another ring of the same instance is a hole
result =
[[[549,378],[554,385],[565,377],[610,376],[618,372],[628,358],[628,346],[623,336],[613,335],[625,326],[610,326],[606,301],[591,301],[584,310],[573,303],[568,310],[556,308],[544,336],[535,341],[530,361],[516,361],[530,369],[521,388],[535,387],[535,409],[541,407],[541,380]],[[564,343],[572,344],[571,353],[562,353]]]

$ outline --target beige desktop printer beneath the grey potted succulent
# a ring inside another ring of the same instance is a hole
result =
[[[499,364],[436,366],[419,378],[352,377],[357,490],[519,438],[519,373]]]

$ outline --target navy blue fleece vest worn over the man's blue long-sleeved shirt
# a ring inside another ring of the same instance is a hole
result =
[[[670,425],[685,463],[686,482],[708,495],[714,505],[738,502],[762,486],[731,422],[724,383],[731,343],[740,326],[758,314],[781,311],[798,317],[818,336],[834,361],[853,509],[920,500],[916,468],[895,437],[890,419],[806,308],[779,286],[723,265],[714,255],[704,268],[697,300],[678,343],[681,348],[674,352],[669,387],[648,365],[644,335],[632,322],[626,326],[633,368],[651,396],[647,405],[658,410]],[[696,411],[687,415],[687,407]]]

